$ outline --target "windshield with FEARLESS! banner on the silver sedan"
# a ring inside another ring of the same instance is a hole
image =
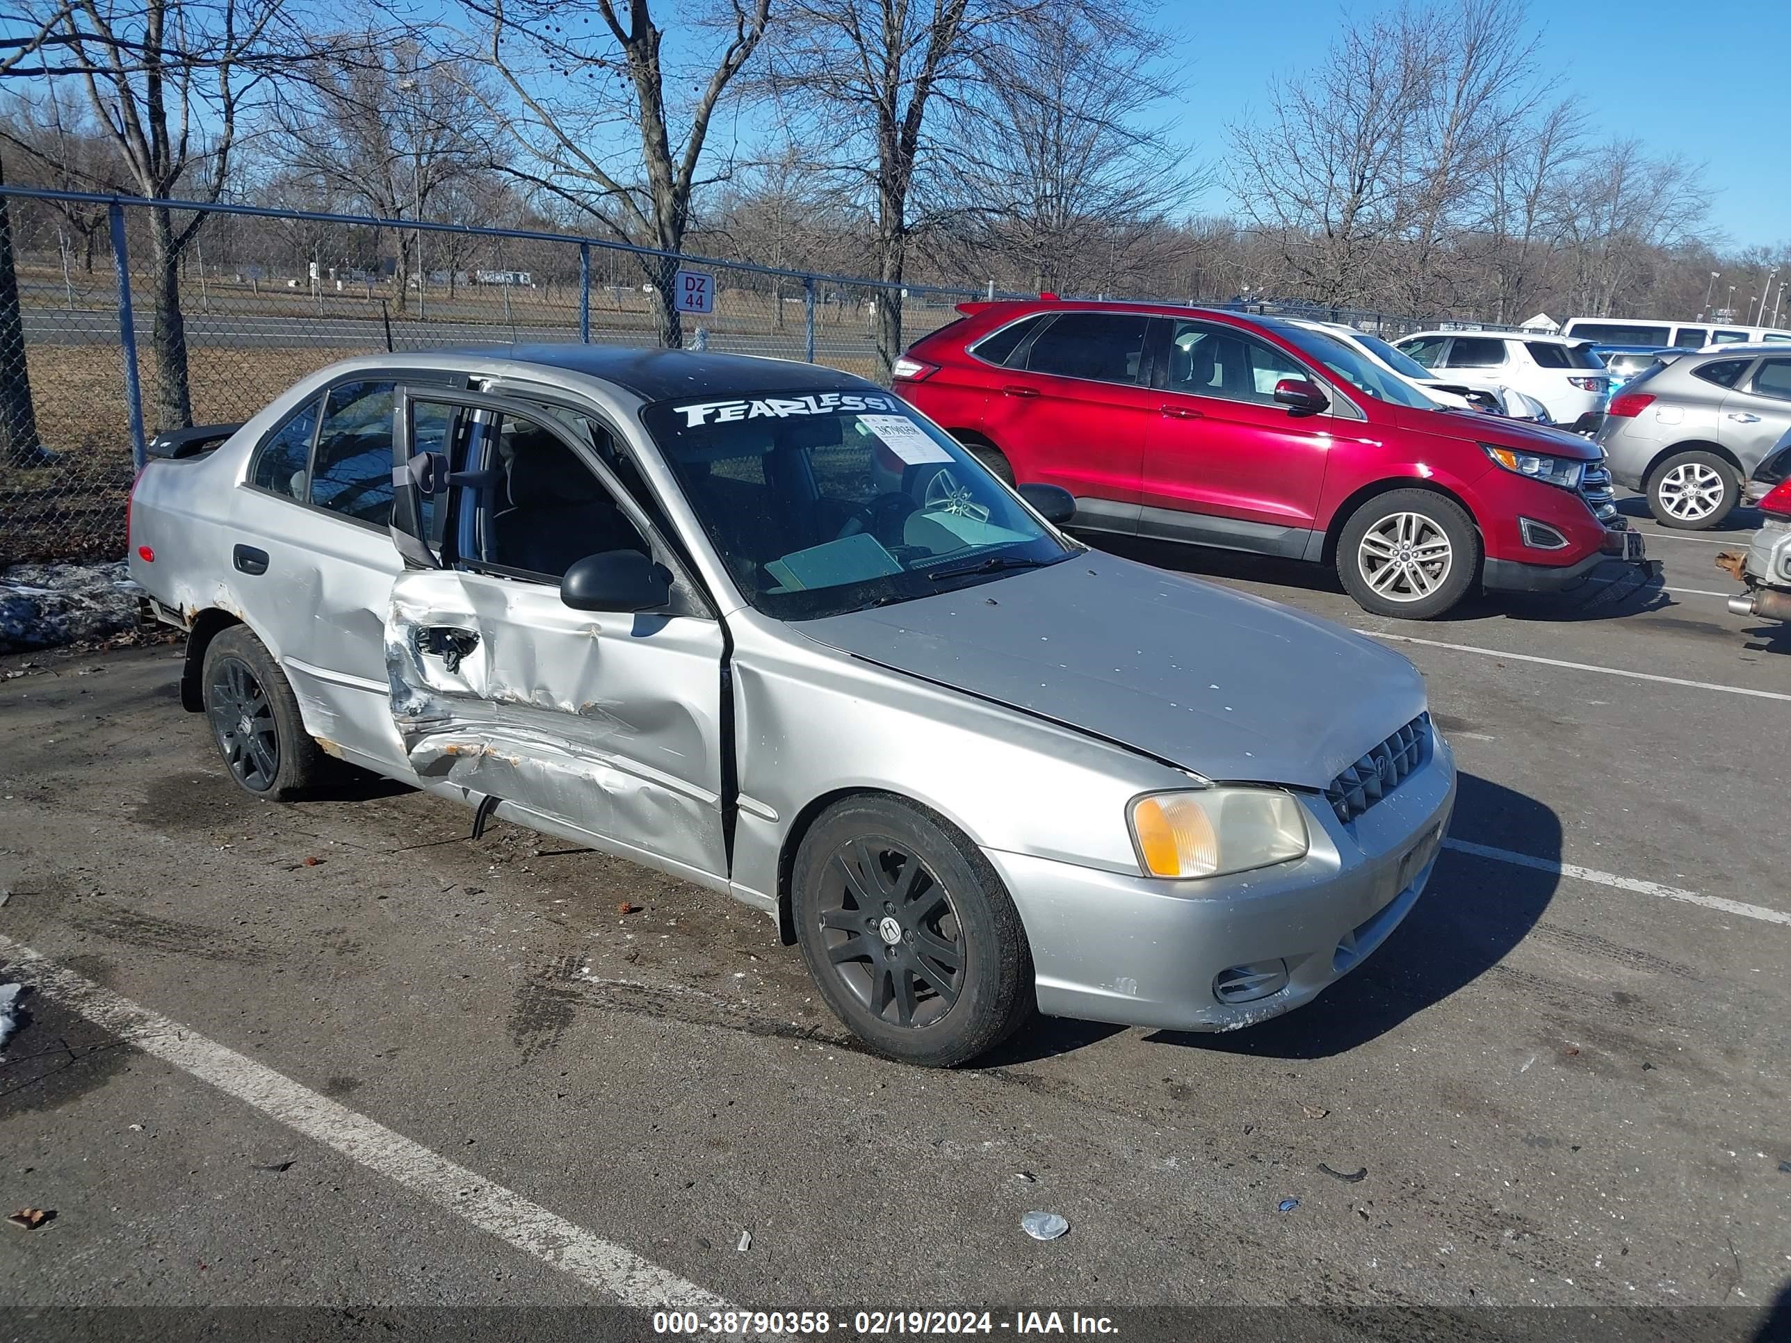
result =
[[[779,620],[908,602],[1075,553],[887,392],[661,401],[641,419],[741,595]]]

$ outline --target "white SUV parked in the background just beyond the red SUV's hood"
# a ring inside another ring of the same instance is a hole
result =
[[[1610,399],[1610,371],[1590,340],[1528,331],[1418,331],[1397,349],[1453,383],[1497,392],[1512,387],[1540,401],[1562,426],[1596,423]]]

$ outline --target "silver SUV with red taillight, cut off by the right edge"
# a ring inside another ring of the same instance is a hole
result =
[[[1701,532],[1735,509],[1761,458],[1791,430],[1791,349],[1723,346],[1624,383],[1598,442],[1610,475],[1648,494],[1664,526]]]

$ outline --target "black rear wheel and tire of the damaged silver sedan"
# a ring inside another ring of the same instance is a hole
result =
[[[238,788],[287,802],[322,783],[331,761],[304,731],[292,686],[247,625],[206,645],[199,688],[211,740]]]

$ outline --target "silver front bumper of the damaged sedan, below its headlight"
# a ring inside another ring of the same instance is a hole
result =
[[[1225,1031],[1309,1003],[1386,940],[1429,881],[1454,795],[1454,756],[1433,736],[1429,761],[1349,825],[1324,797],[1302,795],[1313,847],[1295,863],[1159,881],[983,852],[1026,926],[1041,1012]],[[1250,1003],[1216,997],[1221,972],[1275,960],[1286,987]]]

